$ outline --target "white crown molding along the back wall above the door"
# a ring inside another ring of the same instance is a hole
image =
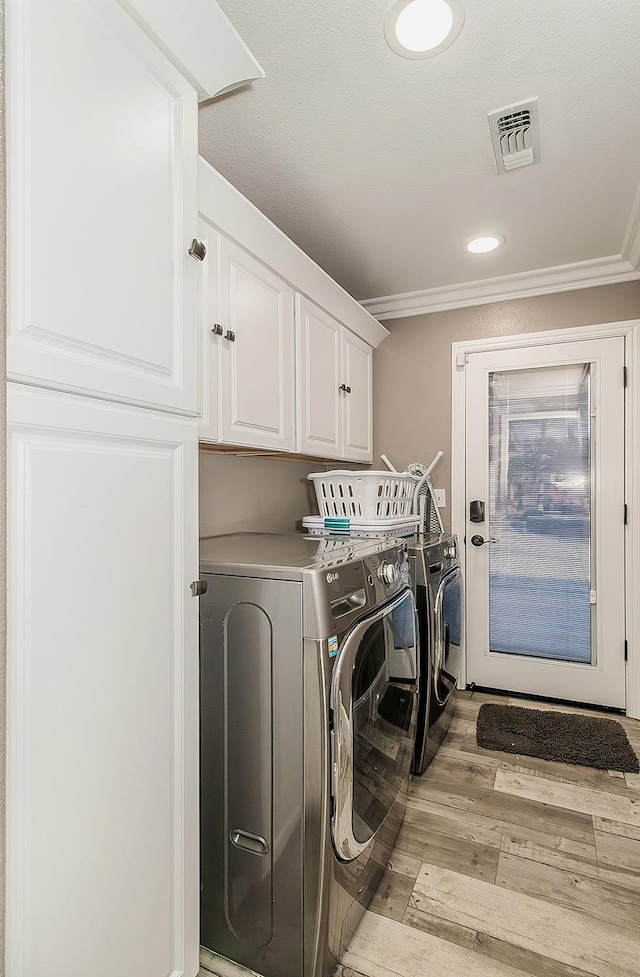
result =
[[[640,219],[637,224],[634,254],[637,250],[640,259]],[[497,278],[462,282],[459,285],[384,295],[381,298],[365,299],[361,305],[377,319],[402,319],[428,312],[446,312],[449,309],[464,309],[490,302],[570,292],[579,288],[614,285],[637,279],[640,279],[637,265],[621,254],[613,254],[568,265],[537,268],[522,274],[501,275]]]

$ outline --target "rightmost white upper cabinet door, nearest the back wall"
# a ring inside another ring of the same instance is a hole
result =
[[[342,333],[344,439],[342,457],[347,461],[372,461],[372,350],[359,336],[347,329]]]

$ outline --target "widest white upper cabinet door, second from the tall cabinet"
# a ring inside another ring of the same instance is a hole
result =
[[[221,236],[222,441],[295,450],[293,291]]]

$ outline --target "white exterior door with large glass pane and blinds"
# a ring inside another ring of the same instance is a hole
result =
[[[624,707],[624,339],[473,353],[469,682]]]

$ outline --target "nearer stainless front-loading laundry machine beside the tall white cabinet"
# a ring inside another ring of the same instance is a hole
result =
[[[406,543],[211,537],[201,572],[201,942],[264,977],[325,977],[404,809]]]

